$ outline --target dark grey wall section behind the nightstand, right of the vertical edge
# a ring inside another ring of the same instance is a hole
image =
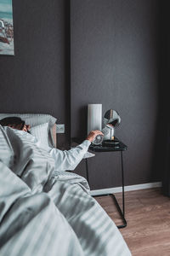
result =
[[[128,146],[127,185],[161,178],[159,32],[156,0],[71,0],[71,137],[86,137],[88,103],[102,103],[103,113],[116,109],[116,137]],[[88,161],[92,189],[121,184],[118,157],[100,153]],[[76,172],[84,174],[85,163]]]

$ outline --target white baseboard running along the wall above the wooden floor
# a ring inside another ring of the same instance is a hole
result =
[[[132,186],[125,186],[124,191],[133,191],[133,190],[139,190],[139,189],[152,189],[152,188],[160,188],[161,182],[158,183],[144,183],[144,184],[137,184]],[[91,195],[104,195],[104,194],[113,194],[122,192],[122,187],[116,187],[116,188],[110,188],[110,189],[96,189],[91,190]]]

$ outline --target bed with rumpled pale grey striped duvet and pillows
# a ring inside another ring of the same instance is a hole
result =
[[[70,156],[55,148],[56,119],[17,115],[32,130],[0,125],[0,255],[131,255],[116,224],[89,195],[87,180],[63,172]],[[80,155],[77,164],[87,148],[71,149]]]

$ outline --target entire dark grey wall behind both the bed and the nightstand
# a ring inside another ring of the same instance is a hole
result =
[[[160,180],[158,1],[71,0],[71,42],[69,1],[13,2],[15,56],[0,55],[0,112],[54,115],[65,123],[65,148],[70,130],[86,137],[88,103],[114,108],[116,137],[128,146],[125,183]],[[118,156],[89,160],[92,189],[121,184]],[[84,161],[76,172],[85,175]]]

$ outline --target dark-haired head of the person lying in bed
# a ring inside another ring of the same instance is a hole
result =
[[[30,130],[30,125],[26,125],[26,122],[19,117],[7,117],[0,120],[0,125],[9,126],[11,128],[20,130],[20,131],[27,131]]]

